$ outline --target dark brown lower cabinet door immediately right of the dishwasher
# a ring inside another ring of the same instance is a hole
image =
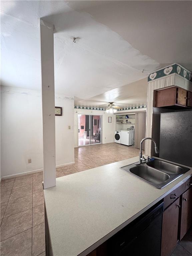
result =
[[[163,213],[161,256],[170,256],[177,245],[179,198]]]

